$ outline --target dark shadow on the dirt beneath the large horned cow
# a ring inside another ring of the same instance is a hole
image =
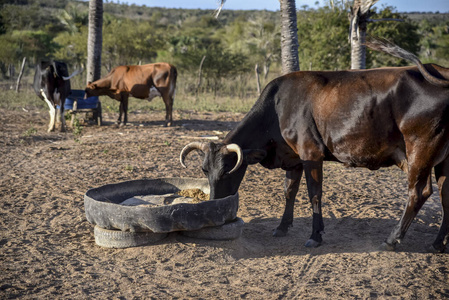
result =
[[[381,245],[397,224],[397,220],[382,218],[325,218],[323,243],[307,248],[312,218],[295,218],[287,236],[273,237],[279,218],[255,218],[245,223],[240,238],[232,241],[211,241],[190,238],[174,233],[172,242],[195,243],[221,247],[234,258],[262,258],[270,256],[324,255],[329,253],[371,253],[384,251]],[[414,222],[396,252],[427,253],[438,233],[438,226]],[[169,242],[169,241],[167,241]],[[446,250],[447,252],[447,250]]]

